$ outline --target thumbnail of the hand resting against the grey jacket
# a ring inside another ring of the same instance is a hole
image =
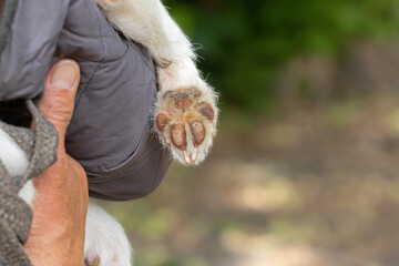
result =
[[[55,64],[50,84],[57,89],[72,90],[79,76],[79,68],[71,60],[63,60]]]

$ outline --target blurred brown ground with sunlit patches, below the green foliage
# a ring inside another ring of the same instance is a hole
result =
[[[396,98],[228,110],[203,165],[173,165],[151,196],[102,205],[139,266],[399,265]]]

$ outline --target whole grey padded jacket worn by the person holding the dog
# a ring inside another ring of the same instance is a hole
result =
[[[157,90],[146,50],[121,37],[93,0],[6,0],[0,102],[40,98],[47,71],[64,57],[81,66],[65,145],[88,174],[90,195],[116,201],[147,195],[171,161],[151,132]]]

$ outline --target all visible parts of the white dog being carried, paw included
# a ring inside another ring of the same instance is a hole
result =
[[[216,133],[216,94],[196,69],[188,39],[160,0],[95,0],[106,18],[126,38],[146,47],[157,64],[160,93],[154,108],[154,130],[175,160],[201,163]],[[22,149],[0,129],[0,161],[11,176],[22,175],[29,161]],[[19,195],[34,200],[29,181]],[[129,266],[132,249],[122,226],[90,204],[85,233],[89,266]],[[115,260],[115,258],[117,258]]]

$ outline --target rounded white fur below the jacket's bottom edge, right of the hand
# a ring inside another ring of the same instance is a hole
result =
[[[132,265],[132,247],[122,226],[93,204],[89,204],[84,256],[89,262],[100,257],[99,266]]]

